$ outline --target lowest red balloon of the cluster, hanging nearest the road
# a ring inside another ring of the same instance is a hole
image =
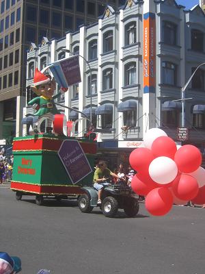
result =
[[[171,210],[173,204],[172,192],[168,188],[154,188],[146,197],[145,206],[154,216],[163,216]]]

